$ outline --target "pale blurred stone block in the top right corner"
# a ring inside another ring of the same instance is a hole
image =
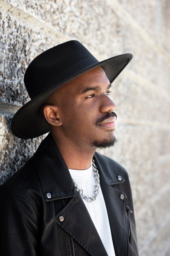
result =
[[[151,40],[154,40],[157,45],[168,51],[170,50],[167,44],[167,36],[170,38],[169,32],[169,17],[170,3],[167,0],[163,1],[135,1],[118,0],[123,10],[131,15],[142,31],[146,32]],[[128,22],[127,22],[128,23]],[[131,22],[129,22],[131,25]],[[141,31],[141,32],[142,32]],[[168,34],[167,34],[168,33]]]

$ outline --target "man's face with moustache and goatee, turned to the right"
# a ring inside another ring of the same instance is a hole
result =
[[[49,102],[59,108],[62,123],[58,128],[70,143],[85,148],[114,145],[116,114],[110,86],[102,67],[97,67],[52,95]]]

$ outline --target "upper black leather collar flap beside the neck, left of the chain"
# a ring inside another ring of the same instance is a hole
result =
[[[73,196],[71,175],[50,133],[35,152],[33,162],[46,202]],[[51,194],[50,198],[47,193]]]

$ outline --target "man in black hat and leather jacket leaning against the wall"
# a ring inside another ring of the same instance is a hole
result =
[[[98,62],[72,40],[28,66],[31,101],[13,117],[12,131],[50,133],[0,188],[1,255],[138,255],[128,175],[96,152],[116,142],[110,87],[131,58]]]

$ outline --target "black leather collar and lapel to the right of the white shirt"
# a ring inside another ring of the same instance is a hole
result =
[[[117,176],[120,175],[118,171],[114,166],[109,166],[107,162],[100,159],[100,154],[96,153],[94,160],[100,174],[100,186],[107,208],[115,253],[116,255],[123,256],[127,246],[124,228],[126,195],[113,185],[118,184],[119,186],[120,183],[124,182],[124,179],[122,177],[121,181],[118,180]],[[115,172],[113,172],[113,169],[115,169]],[[105,173],[107,173],[107,176]],[[120,194],[124,195],[124,200],[121,200]]]

